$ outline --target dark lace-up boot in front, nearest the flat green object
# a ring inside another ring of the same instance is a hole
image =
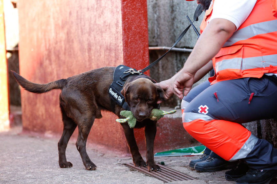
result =
[[[211,155],[206,160],[196,163],[194,169],[201,172],[214,172],[234,168],[237,163],[237,161],[228,162],[211,152]]]

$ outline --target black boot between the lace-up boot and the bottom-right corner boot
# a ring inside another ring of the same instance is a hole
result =
[[[225,178],[229,181],[236,181],[240,177],[244,176],[248,171],[248,165],[246,163],[243,163],[239,161],[237,164],[237,167],[230,171],[225,172]]]

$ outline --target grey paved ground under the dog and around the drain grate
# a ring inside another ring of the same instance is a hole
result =
[[[94,171],[87,171],[73,142],[68,144],[66,150],[67,160],[73,164],[73,167],[60,168],[57,143],[57,138],[21,134],[21,127],[13,128],[9,132],[0,132],[0,183],[163,183],[156,178],[122,165],[122,163],[132,163],[130,157],[102,153],[89,146],[87,148],[88,155],[98,167]],[[167,167],[198,179],[171,182],[172,184],[235,183],[225,180],[225,171],[200,173],[188,167],[189,160],[198,157],[156,157],[155,161],[157,163],[163,161]],[[273,183],[277,183],[277,180],[271,182],[271,184]]]

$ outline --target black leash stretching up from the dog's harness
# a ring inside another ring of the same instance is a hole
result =
[[[201,4],[199,4],[195,10],[195,13],[194,13],[194,16],[193,16],[193,21],[198,21],[198,17],[199,15],[202,13],[203,11],[203,6]],[[188,18],[188,16],[187,16]],[[189,18],[188,18],[189,19]],[[191,27],[191,25],[194,27],[194,25],[192,24],[191,20],[189,19],[190,21],[190,25],[180,34],[180,36],[177,38],[177,40],[175,41],[175,43],[172,45],[172,47],[166,52],[163,54],[163,56],[161,56],[159,59],[157,59],[156,61],[154,61],[153,63],[151,63],[150,65],[148,65],[147,67],[143,68],[142,70],[140,70],[141,73],[144,73],[145,71],[149,70],[151,67],[153,67],[156,63],[158,63],[161,59],[163,59],[163,57],[169,52],[171,51],[171,49],[173,47],[175,47],[175,45],[183,38],[183,36],[187,33],[187,30]],[[197,31],[197,29],[194,27],[194,30]],[[198,33],[198,32],[197,32]],[[199,37],[199,35],[198,35]]]

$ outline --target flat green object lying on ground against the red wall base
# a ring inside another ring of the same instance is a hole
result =
[[[180,148],[170,151],[163,151],[159,153],[155,153],[154,157],[161,157],[161,156],[191,156],[191,155],[202,155],[205,146],[193,146],[188,148]]]

